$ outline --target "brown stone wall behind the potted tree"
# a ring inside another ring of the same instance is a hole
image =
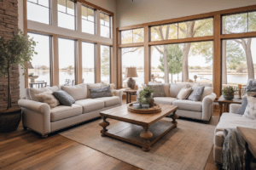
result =
[[[20,3],[22,1],[20,0]],[[0,0],[0,36],[9,40],[12,32],[18,31],[18,0]],[[2,61],[0,61],[2,62]],[[18,107],[20,99],[19,67],[13,66],[11,73],[12,106]],[[8,77],[0,77],[0,110],[7,107]]]

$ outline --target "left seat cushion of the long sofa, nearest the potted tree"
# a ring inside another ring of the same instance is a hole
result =
[[[81,105],[58,105],[50,110],[50,122],[59,121],[80,114],[82,114]]]

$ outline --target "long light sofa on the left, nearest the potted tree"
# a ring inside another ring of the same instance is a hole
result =
[[[101,83],[95,85],[97,88],[102,86]],[[94,84],[90,84],[91,86],[94,86]],[[84,87],[86,87],[84,90],[88,91],[88,84]],[[122,105],[123,92],[121,90],[113,90],[114,96],[112,97],[90,99],[90,94],[87,92],[84,99],[76,100],[72,106],[58,105],[50,109],[48,104],[31,100],[30,89],[26,88],[26,99],[20,99],[18,102],[22,110],[22,123],[25,129],[26,127],[31,128],[33,131],[42,134],[42,137],[47,137],[49,133],[62,128],[99,117],[101,111]],[[41,89],[51,91],[64,90],[62,86]],[[76,93],[74,90],[75,87],[66,92],[73,96],[75,95],[73,93]],[[76,95],[79,94],[77,93]]]

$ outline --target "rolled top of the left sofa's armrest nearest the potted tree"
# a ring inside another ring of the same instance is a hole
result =
[[[36,111],[42,114],[48,113],[50,110],[48,104],[29,100],[29,99],[20,99],[18,101],[18,105],[20,105],[20,107],[25,107],[26,109],[29,109],[31,111]]]

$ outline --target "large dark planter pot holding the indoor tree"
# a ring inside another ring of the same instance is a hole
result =
[[[0,133],[10,133],[17,130],[21,119],[21,109],[0,111]]]

